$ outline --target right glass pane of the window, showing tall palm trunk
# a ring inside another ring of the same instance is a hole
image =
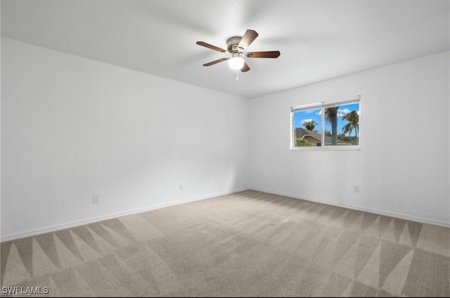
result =
[[[325,145],[359,144],[359,103],[324,108]]]

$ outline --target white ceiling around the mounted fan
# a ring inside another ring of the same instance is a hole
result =
[[[259,33],[235,80],[226,39]],[[449,0],[1,0],[1,35],[241,97],[449,50]]]

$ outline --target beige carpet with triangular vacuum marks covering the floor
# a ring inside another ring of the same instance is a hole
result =
[[[450,229],[263,192],[1,243],[42,296],[449,297]]]

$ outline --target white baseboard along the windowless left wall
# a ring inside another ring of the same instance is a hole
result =
[[[223,196],[225,194],[233,194],[235,192],[242,192],[244,190],[248,190],[248,188],[247,187],[242,187],[242,188],[238,188],[238,189],[230,190],[230,191],[226,191],[226,192],[216,192],[214,194],[206,194],[206,195],[203,195],[203,196],[200,196],[200,197],[191,197],[191,198],[188,198],[188,199],[181,199],[179,201],[171,201],[171,202],[165,203],[165,204],[158,204],[158,205],[153,205],[153,206],[147,206],[147,207],[144,207],[144,208],[130,209],[130,210],[127,210],[127,211],[111,213],[111,214],[108,214],[108,215],[105,215],[105,216],[98,216],[98,217],[94,217],[94,218],[85,218],[85,219],[82,219],[81,221],[72,221],[70,223],[63,223],[63,224],[59,224],[59,225],[52,225],[50,227],[38,228],[38,229],[35,229],[35,230],[28,230],[26,232],[18,232],[18,233],[10,234],[10,235],[1,235],[0,236],[0,242],[6,242],[6,241],[16,240],[16,239],[20,239],[20,238],[40,235],[40,234],[44,234],[46,232],[56,232],[58,230],[74,228],[74,227],[77,227],[79,225],[87,225],[89,223],[96,223],[98,221],[105,221],[107,219],[117,218],[117,217],[120,217],[120,216],[127,216],[127,215],[130,215],[130,214],[148,212],[148,211],[152,211],[152,210],[155,210],[155,209],[160,209],[160,208],[164,208],[164,207],[168,207],[168,206],[174,206],[174,205],[188,203],[188,202],[191,202],[191,201],[200,201],[200,200],[203,200],[203,199],[210,199],[210,198],[213,198],[213,197]]]

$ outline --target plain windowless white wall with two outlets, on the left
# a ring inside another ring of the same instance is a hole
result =
[[[248,184],[247,99],[6,38],[1,62],[1,240]]]

